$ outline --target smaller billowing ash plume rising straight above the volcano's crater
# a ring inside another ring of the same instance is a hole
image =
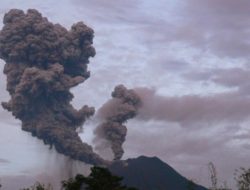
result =
[[[112,92],[112,99],[98,111],[98,116],[104,120],[95,130],[96,141],[105,139],[109,142],[114,153],[114,160],[121,159],[124,151],[127,128],[123,125],[128,119],[137,115],[141,100],[134,90],[118,85]],[[102,144],[97,144],[102,146]]]

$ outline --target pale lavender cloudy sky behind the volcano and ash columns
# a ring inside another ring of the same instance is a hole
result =
[[[117,84],[146,94],[145,109],[127,123],[124,159],[158,156],[205,186],[209,162],[229,186],[235,169],[249,167],[250,1],[1,0],[1,20],[11,8],[35,8],[68,29],[78,21],[94,29],[91,77],[72,89],[75,107],[100,108]],[[0,79],[6,101],[2,72]],[[21,131],[2,108],[0,118],[3,179],[66,159]],[[80,134],[90,144],[94,127],[91,119]]]

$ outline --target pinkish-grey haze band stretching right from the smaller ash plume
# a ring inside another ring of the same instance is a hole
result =
[[[136,89],[136,92],[143,102],[138,115],[142,120],[163,120],[186,126],[199,122],[241,122],[250,116],[250,99],[237,93],[165,97],[147,88]]]

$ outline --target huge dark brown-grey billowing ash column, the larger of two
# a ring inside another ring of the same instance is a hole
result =
[[[89,77],[87,64],[95,55],[93,30],[78,22],[68,31],[33,9],[12,9],[0,32],[0,58],[5,60],[7,90],[3,107],[31,132],[59,153],[90,164],[103,164],[83,143],[76,129],[94,114],[94,108],[76,110],[70,88]]]

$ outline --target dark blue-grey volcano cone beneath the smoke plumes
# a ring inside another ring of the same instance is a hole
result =
[[[109,169],[115,175],[124,177],[124,184],[139,190],[207,190],[192,184],[157,157],[140,156],[116,161]]]

